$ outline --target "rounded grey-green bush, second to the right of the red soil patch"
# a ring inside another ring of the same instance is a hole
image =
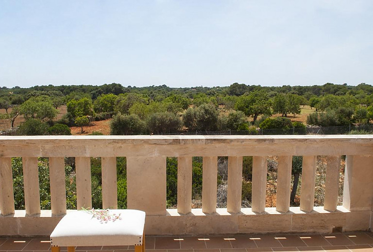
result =
[[[181,127],[179,116],[171,112],[154,113],[146,121],[147,127],[151,133],[174,133]]]

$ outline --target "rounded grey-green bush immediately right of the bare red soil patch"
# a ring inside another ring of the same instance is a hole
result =
[[[114,116],[110,124],[111,135],[141,135],[145,133],[145,123],[137,115]]]

